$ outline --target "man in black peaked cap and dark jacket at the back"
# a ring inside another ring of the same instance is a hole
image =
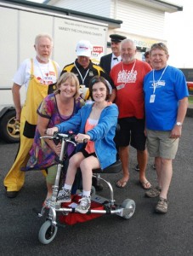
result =
[[[122,61],[120,53],[120,44],[123,39],[126,39],[126,37],[117,34],[112,34],[110,35],[110,38],[112,53],[109,55],[102,56],[99,62],[99,66],[103,67],[105,69],[105,72],[108,74],[110,73],[112,67],[114,67],[120,61]]]

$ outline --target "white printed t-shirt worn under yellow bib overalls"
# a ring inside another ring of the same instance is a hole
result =
[[[41,84],[54,84],[60,77],[60,67],[57,62],[55,66],[58,70],[58,77],[56,77],[54,65],[52,61],[48,61],[47,64],[39,63],[37,58],[33,58],[33,74],[40,81]],[[22,86],[25,84],[27,90],[31,75],[31,59],[26,59],[20,64],[19,69],[14,74],[14,83]]]

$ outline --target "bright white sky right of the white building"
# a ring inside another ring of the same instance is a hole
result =
[[[182,12],[167,14],[166,32],[170,65],[193,68],[193,1],[176,0],[183,5]]]

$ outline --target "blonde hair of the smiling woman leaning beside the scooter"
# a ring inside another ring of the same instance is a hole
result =
[[[63,73],[60,76],[60,79],[58,80],[58,82],[56,84],[57,89],[55,90],[55,94],[60,93],[60,85],[65,83],[66,80],[70,80],[71,84],[74,83],[76,85],[76,93],[74,95],[74,98],[77,98],[78,96],[80,96],[79,95],[80,84],[77,79],[77,76],[76,76],[76,74],[70,73],[70,72]]]

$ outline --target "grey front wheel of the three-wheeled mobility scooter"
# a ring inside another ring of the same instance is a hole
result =
[[[41,229],[39,230],[38,239],[43,244],[48,244],[49,242],[54,240],[57,231],[58,227],[54,226],[50,220],[47,220],[46,222],[44,222]]]

